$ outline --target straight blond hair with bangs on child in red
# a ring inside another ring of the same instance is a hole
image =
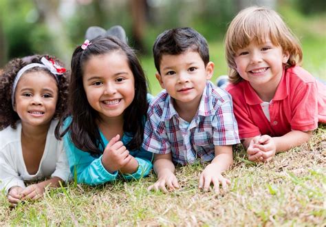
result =
[[[239,83],[242,80],[236,70],[235,53],[237,50],[248,46],[252,41],[261,45],[265,43],[268,36],[273,45],[281,46],[283,52],[290,54],[285,67],[301,63],[301,45],[280,15],[268,8],[249,7],[237,14],[226,32],[226,61],[230,70],[229,80],[231,83]]]

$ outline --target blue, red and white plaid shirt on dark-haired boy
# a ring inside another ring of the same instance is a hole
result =
[[[160,92],[149,106],[142,147],[146,151],[172,152],[173,162],[205,162],[215,158],[215,146],[239,143],[238,126],[228,92],[207,82],[197,114],[186,122],[173,107],[173,98]]]

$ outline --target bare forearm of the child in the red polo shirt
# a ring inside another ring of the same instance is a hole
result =
[[[276,153],[290,150],[307,142],[312,137],[312,131],[290,131],[284,136],[274,137]]]

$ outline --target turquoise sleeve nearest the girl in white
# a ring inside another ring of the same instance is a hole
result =
[[[69,133],[64,136],[64,142],[69,169],[78,184],[98,185],[116,180],[118,171],[109,173],[102,164],[102,155],[94,158],[90,153],[80,151],[69,140]]]

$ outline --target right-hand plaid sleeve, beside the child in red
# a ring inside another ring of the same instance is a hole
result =
[[[232,98],[230,94],[223,97],[216,114],[213,116],[213,142],[215,146],[237,144],[240,142],[237,120],[233,114]]]

